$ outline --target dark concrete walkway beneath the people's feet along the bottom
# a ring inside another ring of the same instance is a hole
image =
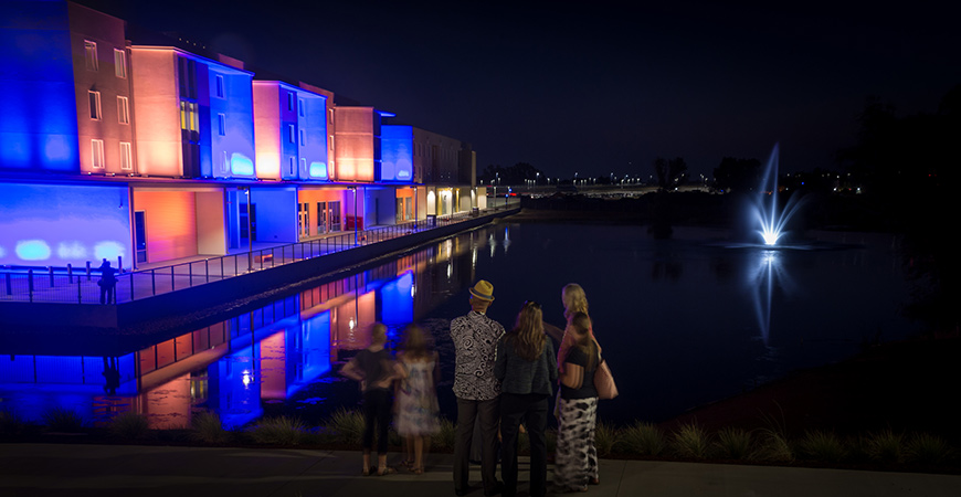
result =
[[[397,464],[400,455],[390,454]],[[527,495],[526,459],[519,494]],[[452,456],[426,472],[360,476],[360,452],[136,445],[0,444],[2,496],[349,496],[454,494]],[[477,488],[472,468],[468,494]],[[498,472],[499,473],[499,472]],[[550,476],[548,476],[550,478]],[[594,497],[612,496],[950,496],[961,476],[718,464],[601,461]]]

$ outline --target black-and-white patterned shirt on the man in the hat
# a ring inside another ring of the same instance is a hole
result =
[[[451,321],[451,338],[457,355],[454,369],[454,395],[464,400],[485,401],[500,394],[494,378],[497,340],[504,327],[489,317],[469,311]]]

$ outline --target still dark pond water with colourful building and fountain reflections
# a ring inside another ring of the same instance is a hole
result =
[[[441,409],[453,420],[447,327],[485,278],[488,314],[508,328],[528,299],[562,327],[561,287],[583,286],[621,389],[601,419],[657,422],[916,332],[899,314],[910,285],[897,248],[891,235],[860,233],[770,251],[704,229],[655,241],[642,226],[495,224],[135,350],[10,355],[0,345],[0,409],[40,420],[61,406],[94,423],[135,411],[155,427],[187,426],[202,410],[228,426],[279,414],[317,424],[358,405],[357,384],[336,371],[379,320],[392,341],[412,321],[432,332]]]

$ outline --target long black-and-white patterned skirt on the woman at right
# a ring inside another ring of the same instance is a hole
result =
[[[564,489],[575,489],[598,478],[598,450],[594,430],[598,425],[598,398],[559,399],[557,453],[553,483]]]

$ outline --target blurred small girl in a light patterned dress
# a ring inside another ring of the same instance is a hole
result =
[[[406,462],[415,475],[424,473],[424,446],[437,433],[437,392],[441,377],[437,352],[416,325],[404,330],[398,360],[405,377],[397,391],[397,431],[406,441]],[[411,457],[413,451],[413,457]]]

